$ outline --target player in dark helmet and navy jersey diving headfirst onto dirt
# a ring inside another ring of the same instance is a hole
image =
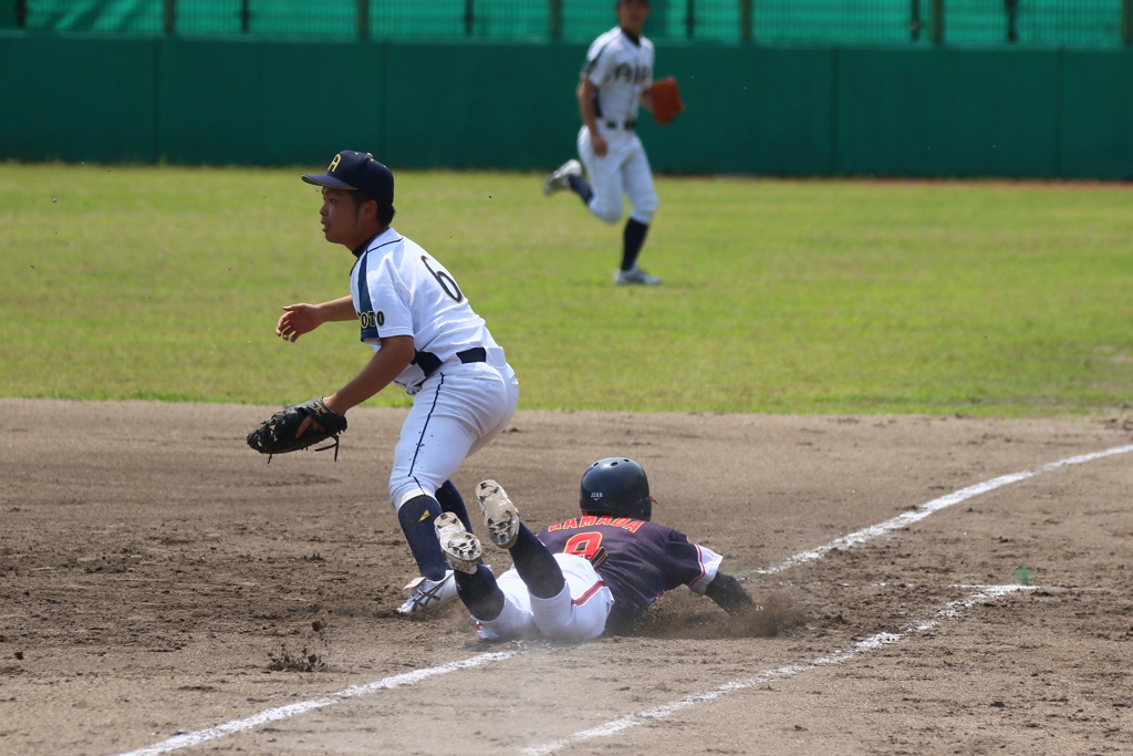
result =
[[[495,481],[477,490],[484,524],[514,567],[494,578],[480,543],[455,517],[436,528],[461,601],[482,638],[588,640],[629,628],[666,591],[687,585],[730,614],[753,608],[740,583],[719,571],[719,554],[649,521],[654,499],[645,470],[629,459],[595,462],[582,476],[581,517],[534,535]]]

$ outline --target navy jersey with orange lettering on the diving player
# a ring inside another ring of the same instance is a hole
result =
[[[572,517],[537,537],[552,553],[577,554],[596,563],[614,595],[607,632],[624,630],[666,591],[687,585],[704,594],[723,559],[689,543],[680,530],[629,517]]]

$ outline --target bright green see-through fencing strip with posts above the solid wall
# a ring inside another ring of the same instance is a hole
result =
[[[0,0],[0,28],[588,40],[614,0]],[[1133,0],[653,0],[658,40],[1118,46]]]

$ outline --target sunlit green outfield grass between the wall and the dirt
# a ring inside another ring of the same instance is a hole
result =
[[[307,170],[322,169],[312,165]],[[300,169],[0,165],[0,394],[284,404],[368,359],[280,307],[348,291]],[[1133,401],[1122,185],[658,179],[642,266],[542,176],[400,171],[521,409],[1113,411]],[[387,389],[370,404],[403,406]]]

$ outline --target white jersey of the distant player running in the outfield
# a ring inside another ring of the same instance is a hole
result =
[[[637,120],[638,95],[653,86],[653,42],[637,42],[615,26],[590,45],[583,69],[598,88],[598,120]]]

